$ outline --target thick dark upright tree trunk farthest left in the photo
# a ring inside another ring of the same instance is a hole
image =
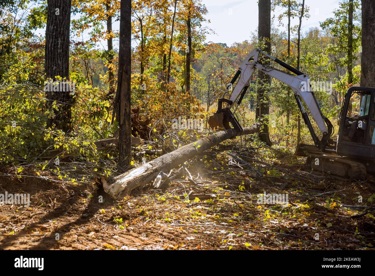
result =
[[[48,0],[45,41],[45,73],[47,79],[55,76],[69,80],[69,34],[71,18],[71,0]],[[59,89],[60,90],[60,89]],[[66,90],[66,89],[65,89]],[[69,91],[48,91],[47,108],[51,109],[55,101],[58,110],[47,121],[47,127],[54,125],[68,133],[71,131],[71,97]]]

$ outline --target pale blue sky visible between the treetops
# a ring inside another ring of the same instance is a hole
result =
[[[211,21],[207,26],[215,31],[207,36],[207,42],[223,42],[230,46],[234,42],[249,40],[251,32],[258,27],[258,0],[202,0],[202,3],[208,10],[206,19]],[[303,32],[332,17],[333,10],[339,7],[339,0],[305,0],[305,5],[310,8],[310,18],[302,21]],[[281,9],[275,10],[276,27],[281,12]],[[291,24],[298,24],[298,19]]]

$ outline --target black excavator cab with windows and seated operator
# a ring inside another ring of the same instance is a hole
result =
[[[351,87],[345,95],[339,120],[336,151],[375,172],[375,89]]]

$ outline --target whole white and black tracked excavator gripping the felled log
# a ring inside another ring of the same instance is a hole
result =
[[[286,70],[282,71],[269,64],[266,65],[262,60],[266,60],[267,63],[277,63]],[[365,180],[366,175],[375,173],[375,89],[372,87],[348,89],[339,115],[338,136],[334,140],[332,136],[335,129],[321,111],[312,91],[309,75],[258,48],[251,51],[243,61],[226,87],[222,98],[218,100],[216,113],[208,118],[208,124],[212,129],[234,128],[242,131],[231,108],[236,102],[237,106],[241,104],[256,70],[287,84],[293,90],[303,121],[314,141],[314,145],[297,145],[295,155],[307,157],[306,165],[342,180]],[[310,116],[317,124],[321,138],[315,133],[302,102],[305,102]]]

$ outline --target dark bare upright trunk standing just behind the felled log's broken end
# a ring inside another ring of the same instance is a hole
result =
[[[120,4],[120,45],[118,47],[118,86],[119,105],[118,121],[120,132],[118,137],[118,165],[129,166],[131,153],[131,121],[130,121],[130,74],[131,74],[131,0],[121,0]]]

